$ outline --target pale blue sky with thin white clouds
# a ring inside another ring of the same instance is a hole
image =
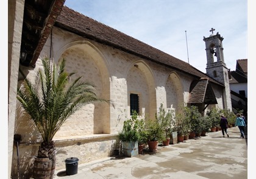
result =
[[[224,38],[224,62],[247,59],[247,0],[66,0],[67,7],[206,72],[204,36]]]

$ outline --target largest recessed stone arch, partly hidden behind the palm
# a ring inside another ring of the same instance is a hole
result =
[[[68,72],[76,72],[73,79],[83,76],[85,81],[96,86],[96,95],[110,99],[110,68],[104,55],[93,44],[88,41],[71,42],[63,46],[56,56],[55,60],[58,61],[66,59]],[[87,104],[67,120],[62,128],[60,135],[65,135],[65,132],[69,136],[110,133],[110,105]]]

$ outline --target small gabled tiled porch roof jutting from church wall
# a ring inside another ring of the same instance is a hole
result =
[[[208,78],[201,78],[190,92],[188,103],[218,104]]]

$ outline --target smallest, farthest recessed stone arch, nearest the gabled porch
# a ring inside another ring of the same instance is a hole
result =
[[[166,90],[166,108],[179,112],[180,107],[184,105],[183,85],[179,75],[176,72],[169,74],[165,84]]]

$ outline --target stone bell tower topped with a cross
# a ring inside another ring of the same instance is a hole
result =
[[[226,64],[224,62],[224,54],[221,35],[219,32],[216,35],[213,33],[215,29],[211,29],[209,37],[205,38],[205,50],[207,56],[207,67],[206,73],[211,78],[215,79],[219,83],[222,83],[225,86],[222,95],[223,108],[230,109],[232,111],[232,103],[231,103],[231,95],[230,95],[230,87],[229,87],[229,69],[227,69]]]

